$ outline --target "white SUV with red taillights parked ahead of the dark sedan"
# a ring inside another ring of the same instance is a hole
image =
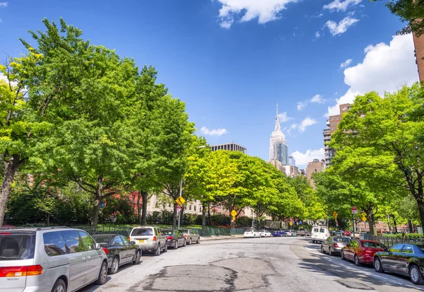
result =
[[[155,255],[160,255],[161,251],[167,251],[166,236],[158,227],[134,227],[129,235],[129,240],[139,245],[143,252],[153,252]]]

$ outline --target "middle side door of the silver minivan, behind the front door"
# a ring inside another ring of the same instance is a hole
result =
[[[77,230],[60,231],[69,254],[69,291],[74,291],[86,283],[87,259]]]

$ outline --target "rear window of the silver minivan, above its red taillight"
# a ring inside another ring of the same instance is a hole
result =
[[[0,261],[33,259],[34,251],[35,234],[0,232]]]

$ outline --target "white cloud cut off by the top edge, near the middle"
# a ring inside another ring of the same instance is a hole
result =
[[[280,18],[278,13],[290,2],[298,0],[218,0],[223,6],[219,10],[220,26],[230,28],[235,16],[240,22],[258,18],[259,23],[267,23]]]

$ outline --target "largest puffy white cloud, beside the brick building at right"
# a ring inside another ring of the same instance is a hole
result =
[[[329,107],[327,115],[338,115],[338,105],[353,103],[356,95],[372,90],[384,95],[405,84],[411,86],[418,81],[416,59],[413,56],[412,35],[395,35],[389,45],[381,42],[365,48],[363,62],[343,71],[348,91]]]

